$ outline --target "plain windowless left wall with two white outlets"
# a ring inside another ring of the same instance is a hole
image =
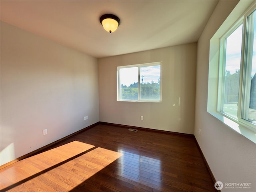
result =
[[[97,59],[1,22],[1,165],[98,121]]]

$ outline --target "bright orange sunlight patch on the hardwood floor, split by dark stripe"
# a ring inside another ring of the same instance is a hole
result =
[[[3,168],[0,190],[70,191],[121,156],[83,142],[70,142]]]

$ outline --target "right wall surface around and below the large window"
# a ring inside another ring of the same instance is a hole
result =
[[[196,114],[194,135],[217,181],[248,182],[251,189],[222,192],[255,192],[256,146],[232,130],[207,110],[209,42],[238,1],[220,1],[198,41],[196,71]],[[201,135],[199,135],[201,129]]]

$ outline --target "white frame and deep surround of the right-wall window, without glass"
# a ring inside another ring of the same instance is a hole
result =
[[[222,121],[224,124],[242,134],[252,142],[256,143],[256,126],[255,124],[244,120],[244,108],[246,106],[245,102],[248,96],[242,98],[242,92],[248,87],[245,87],[246,74],[244,75],[244,60],[246,51],[246,41],[245,39],[245,30],[247,25],[247,16],[255,10],[256,2],[240,1],[237,6],[220,26],[217,32],[210,40],[210,54],[209,54],[209,74],[208,74],[208,101],[207,101],[207,112],[212,114],[218,120]],[[243,23],[243,38],[242,38],[242,54],[241,54],[241,66],[240,66],[240,85],[239,85],[239,96],[238,96],[238,116],[234,118],[225,114],[222,111],[222,85],[223,85],[223,75],[224,75],[224,66],[223,61],[223,52],[225,47],[223,46],[223,41],[225,37],[229,36],[230,33],[234,31],[241,23]],[[247,72],[248,73],[248,72]],[[244,84],[243,84],[244,82]]]

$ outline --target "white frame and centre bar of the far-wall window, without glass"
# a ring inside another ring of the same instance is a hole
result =
[[[158,66],[160,65],[160,99],[140,99],[140,68],[147,66]],[[132,68],[138,67],[138,100],[126,100],[120,98],[120,69],[122,68]],[[127,66],[118,66],[117,67],[117,101],[125,101],[125,102],[162,102],[162,62],[152,62],[145,64],[135,64],[135,65],[127,65]]]

